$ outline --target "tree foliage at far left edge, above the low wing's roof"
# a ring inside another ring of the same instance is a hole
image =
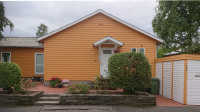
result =
[[[9,26],[11,31],[13,30],[14,25],[6,17],[6,15],[5,15],[5,7],[3,5],[3,2],[0,1],[0,39],[2,39],[4,37],[2,33],[3,33],[4,28],[6,26]]]

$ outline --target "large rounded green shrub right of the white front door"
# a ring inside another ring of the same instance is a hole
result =
[[[117,53],[109,58],[109,79],[125,94],[134,94],[151,86],[151,67],[142,53]]]

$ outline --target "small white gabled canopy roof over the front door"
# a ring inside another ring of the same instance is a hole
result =
[[[107,36],[107,37],[105,37],[105,38],[103,38],[103,39],[101,39],[101,40],[95,42],[95,43],[94,43],[94,46],[96,47],[96,46],[98,46],[99,44],[104,43],[104,42],[107,42],[107,41],[112,41],[112,42],[114,42],[115,44],[117,44],[117,45],[119,45],[119,46],[123,46],[123,45],[124,45],[124,44],[121,43],[120,41],[115,40],[114,38],[112,38],[112,37],[110,37],[110,36]]]

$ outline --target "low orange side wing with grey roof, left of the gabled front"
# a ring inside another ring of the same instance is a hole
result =
[[[0,41],[1,62],[17,63],[23,77],[43,76],[43,45],[34,37],[6,37]]]

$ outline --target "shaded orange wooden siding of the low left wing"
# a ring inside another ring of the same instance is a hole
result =
[[[43,48],[0,48],[1,52],[11,52],[11,62],[18,64],[23,77],[40,77],[35,74],[35,53],[43,53]],[[1,59],[1,55],[0,55]]]

